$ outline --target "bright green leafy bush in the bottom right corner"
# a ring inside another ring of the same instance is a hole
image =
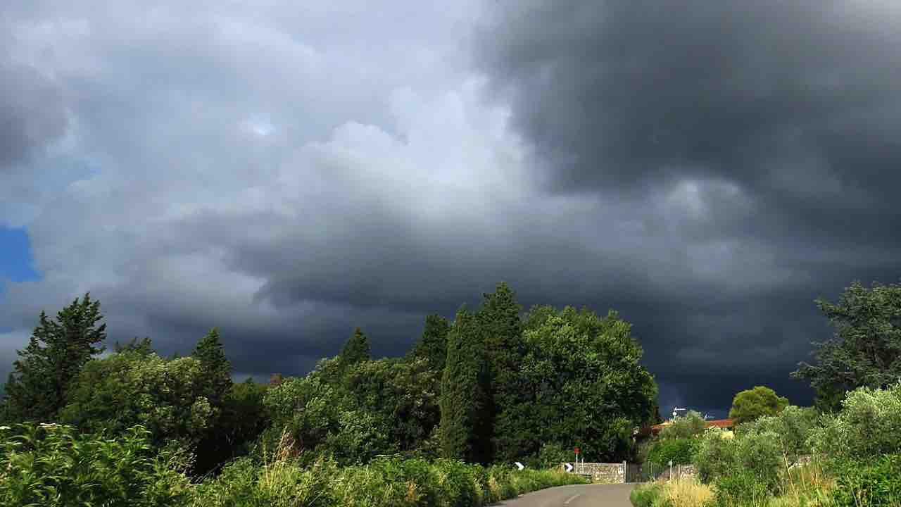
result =
[[[841,507],[896,507],[901,504],[901,455],[875,462],[846,461],[833,465],[833,501]]]

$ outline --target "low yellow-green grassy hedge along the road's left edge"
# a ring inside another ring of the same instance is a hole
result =
[[[385,458],[340,468],[319,460],[312,466],[279,458],[264,466],[249,459],[196,489],[196,507],[478,507],[518,494],[582,484],[578,475],[550,470],[514,471],[440,459]]]

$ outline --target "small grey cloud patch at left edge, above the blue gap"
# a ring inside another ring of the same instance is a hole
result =
[[[0,61],[0,171],[23,162],[66,132],[58,87],[36,69]]]

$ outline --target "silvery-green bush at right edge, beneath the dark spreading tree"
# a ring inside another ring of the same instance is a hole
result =
[[[817,454],[855,459],[901,453],[901,383],[849,392],[842,411],[824,417],[808,440]]]

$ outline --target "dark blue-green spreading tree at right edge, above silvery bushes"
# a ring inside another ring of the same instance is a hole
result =
[[[901,378],[901,284],[867,289],[855,281],[838,304],[821,298],[816,305],[835,328],[833,338],[814,342],[815,364],[798,364],[792,376],[810,383],[821,409],[838,409],[845,392]]]

